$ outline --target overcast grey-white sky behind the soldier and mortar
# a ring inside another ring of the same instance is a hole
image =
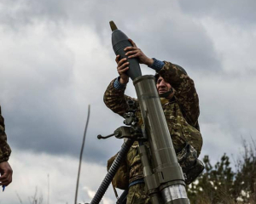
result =
[[[123,123],[104,105],[118,76],[109,21],[139,48],[183,66],[200,97],[201,158],[235,158],[241,138],[256,139],[256,14],[254,0],[0,2],[0,104],[13,153],[14,181],[1,204],[73,203],[88,105],[79,201],[89,201],[122,144],[97,140]],[[143,74],[154,74],[142,65]],[[136,97],[130,83],[126,94]],[[48,177],[49,175],[49,177]],[[49,181],[49,194],[47,190]],[[19,196],[18,196],[19,195]],[[110,188],[103,203],[113,203]]]

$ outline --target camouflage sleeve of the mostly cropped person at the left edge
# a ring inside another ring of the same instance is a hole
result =
[[[0,163],[3,161],[8,161],[11,153],[9,144],[7,144],[7,136],[5,133],[4,119],[1,114],[0,106]]]

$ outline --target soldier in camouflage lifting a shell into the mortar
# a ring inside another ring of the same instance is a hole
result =
[[[135,42],[131,39],[130,42],[133,47],[125,48],[126,56],[137,58],[140,64],[148,65],[156,71],[156,88],[160,94],[160,102],[176,153],[182,152],[184,147],[189,144],[193,150],[197,151],[198,157],[201,153],[202,138],[198,124],[199,99],[193,80],[181,66],[148,58],[141,49],[137,48]],[[104,102],[113,112],[124,116],[128,108],[127,100],[134,100],[138,108],[139,106],[137,99],[132,99],[124,94],[126,84],[129,82],[129,77],[125,74],[125,71],[129,69],[129,62],[127,62],[127,59],[119,60],[119,55],[115,60],[118,65],[119,77],[113,79],[108,85],[104,94]],[[139,124],[142,125],[143,120],[139,111],[137,117],[139,118]],[[119,167],[115,178],[113,178],[114,187],[122,190],[129,189],[127,195],[127,203],[129,204],[149,203],[148,195],[144,190],[143,168],[137,147],[138,143],[136,141],[129,150],[125,161]],[[113,159],[114,156],[108,161],[108,167]],[[180,165],[183,167],[183,164],[180,163]],[[184,171],[186,171],[186,167],[183,167]]]

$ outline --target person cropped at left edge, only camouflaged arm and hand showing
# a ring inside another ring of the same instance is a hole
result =
[[[1,114],[0,105],[0,185],[7,186],[12,182],[13,170],[9,165],[9,156],[11,149],[7,144],[7,137],[5,134],[4,119]],[[3,187],[4,190],[4,187]]]

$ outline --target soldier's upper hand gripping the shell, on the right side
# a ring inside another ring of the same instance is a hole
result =
[[[143,51],[140,48],[137,48],[137,45],[135,42],[133,42],[131,39],[129,39],[133,47],[127,47],[125,48],[126,56],[128,58],[138,58],[140,64],[144,65],[153,65],[154,59],[148,58],[145,54],[143,54]]]

